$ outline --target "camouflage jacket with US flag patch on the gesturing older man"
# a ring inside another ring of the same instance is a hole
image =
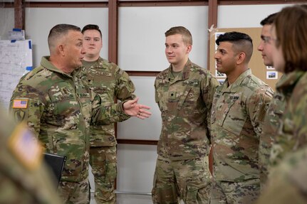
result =
[[[41,66],[19,81],[10,110],[17,121],[28,124],[47,152],[67,156],[61,181],[76,182],[88,178],[90,121],[110,123],[109,117],[123,109],[119,104],[91,113],[89,88],[73,78],[43,57]]]

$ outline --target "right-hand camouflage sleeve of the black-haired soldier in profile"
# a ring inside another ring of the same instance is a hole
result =
[[[268,86],[264,86],[256,90],[256,92],[254,92],[254,94],[250,97],[248,114],[258,139],[261,136],[264,125],[264,117],[266,116],[266,111],[269,108],[272,97],[273,90],[271,90],[271,88]]]

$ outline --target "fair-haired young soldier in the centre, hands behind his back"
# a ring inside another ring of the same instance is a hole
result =
[[[155,80],[162,130],[152,200],[155,204],[209,203],[209,114],[219,82],[189,60],[192,35],[187,28],[170,28],[165,37],[170,67]]]

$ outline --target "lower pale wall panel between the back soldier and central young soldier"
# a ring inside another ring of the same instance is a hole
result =
[[[157,146],[118,144],[117,190],[134,193],[151,193]],[[125,198],[130,198],[125,200]],[[152,203],[148,195],[118,195],[120,204]]]

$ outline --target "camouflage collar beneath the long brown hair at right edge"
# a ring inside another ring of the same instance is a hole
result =
[[[276,83],[276,90],[282,92],[283,95],[291,95],[294,87],[306,72],[295,70],[291,73],[284,74]]]

